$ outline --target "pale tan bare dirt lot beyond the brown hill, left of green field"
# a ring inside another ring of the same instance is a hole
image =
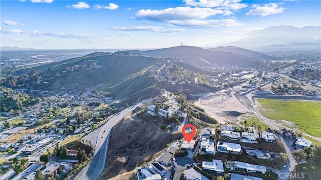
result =
[[[195,105],[202,107],[205,112],[214,117],[219,123],[241,120],[240,116],[231,116],[226,111],[236,111],[246,114],[248,111],[232,95],[217,93],[200,98]]]

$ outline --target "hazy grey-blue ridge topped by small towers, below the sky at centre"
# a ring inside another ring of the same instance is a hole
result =
[[[147,50],[147,51],[121,51],[114,54],[136,54],[141,56],[152,57],[172,57],[178,58],[185,63],[193,66],[204,67],[214,64],[233,64],[243,67],[256,67],[264,60],[275,59],[274,57],[238,48],[226,47],[220,49],[203,49],[195,46],[176,46],[163,49]]]

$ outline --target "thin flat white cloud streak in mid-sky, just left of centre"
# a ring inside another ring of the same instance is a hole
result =
[[[157,33],[175,33],[185,31],[185,29],[165,29],[158,26],[111,27],[111,29],[117,31],[151,31]]]

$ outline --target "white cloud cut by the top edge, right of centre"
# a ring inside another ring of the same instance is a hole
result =
[[[185,5],[202,8],[220,8],[225,10],[239,10],[246,8],[241,0],[184,0]]]

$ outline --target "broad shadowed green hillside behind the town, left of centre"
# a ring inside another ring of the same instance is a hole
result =
[[[49,84],[49,90],[79,91],[97,85],[108,88],[117,86],[142,75],[156,61],[152,57],[92,53],[81,58],[25,69],[20,73],[39,70],[41,75],[48,77],[46,83]]]

